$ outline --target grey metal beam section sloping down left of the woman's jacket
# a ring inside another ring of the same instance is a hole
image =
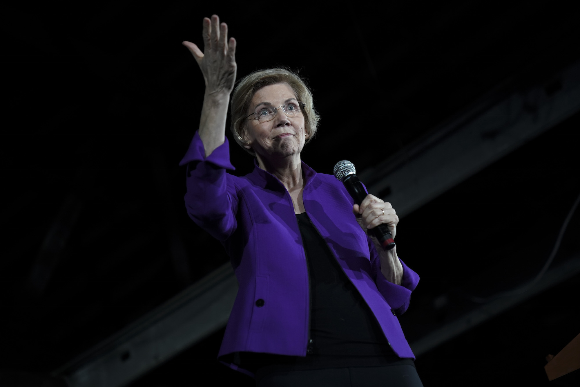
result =
[[[74,387],[129,384],[230,317],[238,283],[230,263],[52,373]]]

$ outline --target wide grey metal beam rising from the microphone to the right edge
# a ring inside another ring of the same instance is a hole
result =
[[[580,62],[548,84],[478,103],[359,176],[369,192],[382,193],[402,217],[578,110]]]

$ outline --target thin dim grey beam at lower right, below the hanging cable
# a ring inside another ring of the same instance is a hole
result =
[[[560,282],[564,282],[566,279],[574,277],[574,275],[577,275],[578,273],[580,273],[580,257],[574,257],[565,261],[565,263],[548,270],[538,283],[527,291],[491,301],[484,306],[465,314],[465,316],[445,324],[443,327],[436,329],[418,341],[412,342],[411,349],[415,356],[421,356],[441,343],[444,343],[455,336],[461,335],[463,332],[475,327],[476,325],[490,320],[490,318],[497,316],[510,307],[516,306],[532,296],[541,293],[552,286],[560,284]]]

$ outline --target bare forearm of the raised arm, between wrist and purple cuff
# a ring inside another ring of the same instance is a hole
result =
[[[204,95],[199,134],[204,143],[205,157],[211,155],[225,141],[229,102],[229,94],[209,94],[206,91]]]

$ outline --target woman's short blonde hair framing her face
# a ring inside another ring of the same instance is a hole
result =
[[[248,108],[256,91],[264,86],[277,83],[287,83],[290,85],[296,99],[305,103],[304,110],[302,110],[305,118],[305,130],[308,134],[305,144],[308,144],[314,137],[314,134],[316,134],[316,127],[318,126],[320,116],[314,110],[312,92],[306,84],[306,80],[300,78],[298,74],[288,69],[256,70],[242,78],[231,95],[231,132],[234,135],[235,141],[252,156],[255,156],[256,153],[252,149],[244,147],[247,143],[242,137],[242,132],[247,124]]]

